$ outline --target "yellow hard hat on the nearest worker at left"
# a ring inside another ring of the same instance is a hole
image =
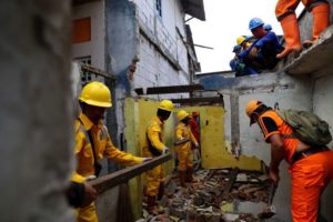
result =
[[[112,107],[111,92],[102,82],[90,82],[85,84],[79,100],[94,107]]]

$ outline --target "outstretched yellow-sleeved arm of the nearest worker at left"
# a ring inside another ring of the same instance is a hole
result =
[[[109,133],[107,137],[104,157],[124,165],[135,165],[143,162],[143,158],[134,157],[115,148],[111,141]]]

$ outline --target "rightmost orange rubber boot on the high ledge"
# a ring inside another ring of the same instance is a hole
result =
[[[304,41],[306,48],[315,43],[320,34],[330,26],[330,4],[321,3],[312,9],[313,14],[313,28],[312,40]]]

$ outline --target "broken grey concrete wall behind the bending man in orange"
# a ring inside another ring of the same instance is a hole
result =
[[[333,1],[331,3],[331,11]],[[331,14],[332,21],[332,14]],[[299,17],[302,41],[312,38],[312,16],[303,11]],[[321,40],[312,48],[304,50],[295,59],[281,62],[276,72],[262,73],[259,77],[230,78],[232,72],[215,72],[198,75],[196,81],[206,90],[199,97],[220,92],[225,102],[225,140],[241,144],[241,153],[255,155],[266,164],[270,162],[270,145],[263,142],[258,125],[249,127],[245,105],[251,99],[258,99],[273,109],[306,110],[316,113],[333,125],[333,27],[329,27]],[[329,144],[332,147],[332,142]],[[291,221],[291,181],[287,164],[282,163],[279,189],[274,199],[280,221]],[[332,184],[321,199],[320,221],[332,221],[331,211]],[[274,218],[274,219],[275,219]]]

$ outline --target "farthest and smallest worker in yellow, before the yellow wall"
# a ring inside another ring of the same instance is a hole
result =
[[[184,141],[183,143],[176,145],[176,158],[179,161],[178,172],[180,178],[181,186],[185,186],[185,181],[192,182],[193,180],[193,154],[192,154],[192,143],[199,148],[194,135],[191,132],[190,114],[180,110],[176,113],[178,125],[175,128],[175,140]]]

